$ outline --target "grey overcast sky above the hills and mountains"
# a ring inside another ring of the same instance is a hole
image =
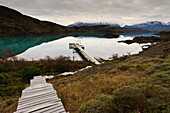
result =
[[[62,25],[74,22],[170,22],[170,0],[0,0],[25,15]]]

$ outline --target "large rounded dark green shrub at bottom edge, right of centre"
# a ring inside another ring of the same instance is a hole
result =
[[[142,89],[137,86],[126,86],[114,91],[114,103],[119,112],[133,112],[138,107],[145,108],[147,105]]]

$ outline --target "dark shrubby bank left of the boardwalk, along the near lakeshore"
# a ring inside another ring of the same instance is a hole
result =
[[[21,91],[36,75],[57,75],[65,71],[76,71],[91,65],[85,61],[71,61],[68,57],[39,61],[26,61],[13,57],[0,60],[0,113],[13,113],[16,110]]]

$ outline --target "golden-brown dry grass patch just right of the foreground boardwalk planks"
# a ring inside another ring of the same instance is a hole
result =
[[[134,83],[141,83],[145,77],[135,75],[105,75],[96,74],[86,80],[81,80],[57,87],[59,97],[62,98],[66,109],[69,112],[76,112],[82,103],[94,99],[96,95],[112,94],[122,86]]]

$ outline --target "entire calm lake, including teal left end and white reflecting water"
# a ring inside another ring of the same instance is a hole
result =
[[[69,49],[69,43],[81,43],[85,51],[95,58],[109,59],[113,54],[119,56],[127,54],[137,54],[142,51],[143,44],[118,43],[120,40],[133,39],[133,35],[119,38],[98,38],[98,37],[72,37],[72,36],[33,36],[33,37],[13,37],[0,39],[0,56],[13,54],[27,60],[43,59],[46,56],[52,58],[58,56],[69,56],[71,59],[81,60],[81,57],[73,50]]]

